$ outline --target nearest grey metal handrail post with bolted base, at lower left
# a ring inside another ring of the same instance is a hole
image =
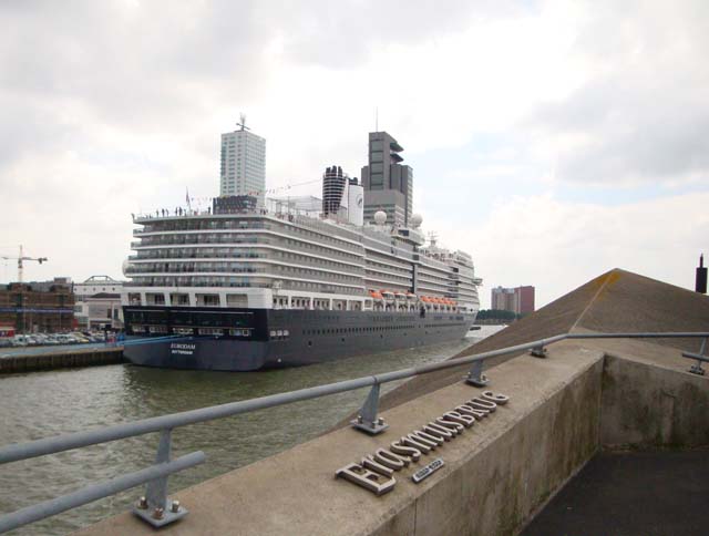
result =
[[[155,464],[167,463],[172,454],[172,429],[164,429],[160,433]],[[167,478],[161,476],[145,486],[145,495],[133,506],[133,513],[153,527],[162,527],[188,514],[187,508],[178,501],[173,501],[167,508]]]

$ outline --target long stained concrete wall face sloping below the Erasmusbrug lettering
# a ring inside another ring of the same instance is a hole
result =
[[[418,497],[415,530],[405,534],[516,534],[597,451],[600,369],[594,364]]]

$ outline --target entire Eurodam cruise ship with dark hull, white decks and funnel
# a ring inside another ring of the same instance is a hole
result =
[[[471,256],[427,239],[418,215],[403,226],[377,210],[364,223],[357,179],[328,168],[323,181],[322,202],[223,196],[134,215],[125,357],[251,371],[465,337],[482,282]]]

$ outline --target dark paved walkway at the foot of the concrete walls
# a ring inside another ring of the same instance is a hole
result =
[[[594,457],[523,536],[709,534],[709,450]]]

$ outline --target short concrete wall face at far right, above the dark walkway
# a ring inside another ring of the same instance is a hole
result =
[[[672,352],[675,353],[675,352]],[[608,447],[709,445],[709,378],[659,362],[607,354],[600,441]]]

